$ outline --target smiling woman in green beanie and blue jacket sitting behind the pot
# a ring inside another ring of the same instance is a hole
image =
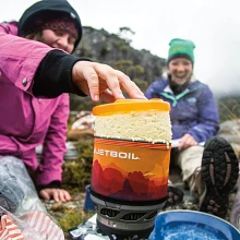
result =
[[[151,84],[145,95],[171,105],[172,139],[179,140],[171,151],[172,164],[182,170],[200,211],[225,216],[238,178],[238,159],[229,143],[215,136],[218,110],[209,87],[193,76],[194,44],[175,38],[169,45],[168,76]]]

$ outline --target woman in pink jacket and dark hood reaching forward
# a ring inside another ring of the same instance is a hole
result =
[[[124,98],[122,87],[131,98],[145,98],[122,72],[70,55],[81,37],[81,20],[63,0],[36,2],[19,23],[0,24],[0,171],[4,163],[13,178],[5,159],[21,159],[45,200],[71,200],[60,188],[68,93],[89,95],[93,101],[113,101]],[[38,163],[35,147],[40,144],[44,151]],[[9,201],[16,208],[5,188],[0,182],[0,205]]]

